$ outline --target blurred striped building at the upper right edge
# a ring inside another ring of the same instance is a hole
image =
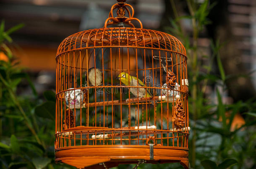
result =
[[[241,55],[235,60],[242,62],[248,71],[256,70],[256,1],[229,0],[228,11],[232,34]],[[256,73],[252,74],[256,87]]]

